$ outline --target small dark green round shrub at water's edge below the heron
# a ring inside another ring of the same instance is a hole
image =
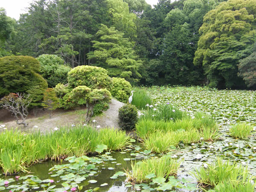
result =
[[[138,111],[134,105],[125,104],[119,108],[119,126],[124,130],[132,130],[138,121]]]

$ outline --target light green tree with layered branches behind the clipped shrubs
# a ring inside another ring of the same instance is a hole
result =
[[[90,52],[88,58],[95,58],[96,65],[107,69],[111,77],[138,81],[141,62],[132,49],[134,44],[124,38],[124,33],[102,24],[96,37],[98,40],[92,41],[95,51]]]

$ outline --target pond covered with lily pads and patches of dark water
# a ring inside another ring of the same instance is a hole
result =
[[[83,168],[80,167],[81,169],[72,164],[72,161],[74,163],[76,160],[70,157],[69,161],[47,161],[30,166],[29,171],[32,173],[29,174],[2,176],[0,177],[0,190],[5,187],[3,191],[46,189],[48,191],[70,191],[72,188],[76,191],[156,191],[159,189],[156,183],[134,185],[128,182],[124,175],[126,170],[131,170],[132,164],[155,156],[169,156],[180,162],[178,177],[175,180],[184,185],[183,187],[176,185],[177,187],[172,188],[175,191],[203,191],[203,189],[196,188],[197,180],[192,177],[192,172],[194,169],[207,167],[217,157],[247,167],[250,174],[256,176],[256,104],[254,102],[256,92],[201,90],[199,87],[179,89],[153,87],[148,91],[154,98],[154,103],[170,102],[188,113],[195,111],[211,113],[220,128],[221,136],[218,140],[190,144],[181,142],[169,152],[158,155],[145,150],[141,143],[132,140],[133,145],[129,145],[123,151],[104,151],[100,155],[90,156],[90,159],[85,160],[87,163],[80,162],[84,165]],[[183,102],[184,100],[187,102]],[[230,137],[228,134],[230,127],[236,122],[252,123],[254,128],[248,139],[240,140]],[[65,167],[66,164],[69,165]],[[49,170],[52,167],[54,168]],[[15,176],[20,177],[17,179]],[[5,181],[9,181],[7,186],[4,184]]]

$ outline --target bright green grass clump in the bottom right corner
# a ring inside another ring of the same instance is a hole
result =
[[[215,187],[219,183],[225,184],[224,182],[229,183],[230,181],[244,185],[252,179],[246,168],[237,166],[236,163],[231,164],[221,158],[217,158],[215,163],[207,165],[207,168],[201,167],[201,169],[191,172],[201,186]]]

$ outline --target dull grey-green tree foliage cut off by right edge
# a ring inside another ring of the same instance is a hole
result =
[[[238,70],[247,87],[256,85],[256,52],[239,61]]]

